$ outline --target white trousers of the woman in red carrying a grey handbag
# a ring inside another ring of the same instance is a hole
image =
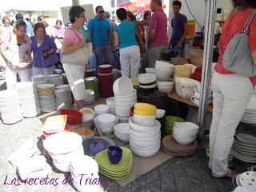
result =
[[[212,78],[214,111],[210,126],[210,162],[214,177],[227,173],[227,157],[254,86],[238,74],[218,74]]]

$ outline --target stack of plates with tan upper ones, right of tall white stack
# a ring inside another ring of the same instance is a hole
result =
[[[52,112],[56,110],[55,86],[54,84],[41,84],[37,86],[38,98],[42,112]]]

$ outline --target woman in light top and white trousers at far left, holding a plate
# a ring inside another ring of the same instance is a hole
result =
[[[6,41],[1,41],[0,52],[6,60],[7,89],[14,89],[17,74],[21,82],[30,82],[28,68],[31,64],[30,38],[26,34],[26,22],[18,20]]]

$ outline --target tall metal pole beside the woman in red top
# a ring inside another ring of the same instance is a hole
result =
[[[200,105],[198,110],[199,137],[203,138],[205,134],[206,112],[208,107],[208,90],[210,82],[211,65],[214,50],[214,23],[216,15],[216,0],[206,0],[207,14],[205,26],[205,43],[202,66],[202,94],[200,96]]]

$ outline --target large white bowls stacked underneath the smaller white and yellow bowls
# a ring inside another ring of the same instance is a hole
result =
[[[141,157],[150,157],[158,153],[161,146],[161,124],[157,120],[154,126],[138,126],[129,118],[130,149]]]

